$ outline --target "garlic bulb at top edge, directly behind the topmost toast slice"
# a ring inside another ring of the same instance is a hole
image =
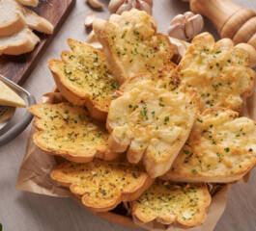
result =
[[[133,8],[152,14],[153,0],[111,0],[108,5],[110,13],[118,14]]]

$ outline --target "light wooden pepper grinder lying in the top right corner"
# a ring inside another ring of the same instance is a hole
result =
[[[256,54],[256,13],[230,0],[183,0],[190,3],[194,13],[207,16],[217,28],[221,38],[233,39],[235,44],[248,43],[247,48]],[[241,46],[246,47],[245,44]],[[246,49],[247,49],[246,48]],[[254,51],[253,51],[254,50]],[[255,55],[253,58],[255,59]],[[256,64],[256,61],[252,61]]]

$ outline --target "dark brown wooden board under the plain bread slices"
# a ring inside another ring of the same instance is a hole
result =
[[[40,0],[39,6],[33,10],[53,24],[53,35],[47,36],[35,32],[41,41],[32,52],[20,56],[0,56],[0,74],[19,85],[24,83],[39,62],[46,46],[71,12],[74,3],[75,0]]]

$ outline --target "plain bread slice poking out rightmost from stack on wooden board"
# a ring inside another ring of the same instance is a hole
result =
[[[37,13],[34,13],[27,8],[20,8],[20,11],[22,12],[26,24],[30,29],[49,35],[53,33],[53,25],[45,18],[39,16]]]

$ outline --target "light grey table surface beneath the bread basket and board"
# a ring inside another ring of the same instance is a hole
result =
[[[108,1],[101,0],[107,4]],[[158,28],[166,32],[171,18],[184,13],[188,5],[180,0],[155,0],[154,15]],[[256,11],[255,0],[234,0]],[[68,48],[66,39],[86,39],[85,15],[92,10],[85,0],[77,0],[68,20],[45,51],[24,87],[37,99],[52,90],[54,83],[46,66],[49,58],[58,58]],[[97,15],[106,18],[106,7]],[[213,25],[206,21],[206,30],[215,34]],[[6,146],[0,147],[0,223],[3,231],[128,231],[129,228],[108,223],[96,218],[76,205],[71,199],[62,199],[15,190],[15,181],[23,159],[30,127]],[[246,185],[235,185],[228,193],[228,205],[215,231],[256,230],[256,170],[253,170]],[[207,231],[207,230],[206,230]]]

